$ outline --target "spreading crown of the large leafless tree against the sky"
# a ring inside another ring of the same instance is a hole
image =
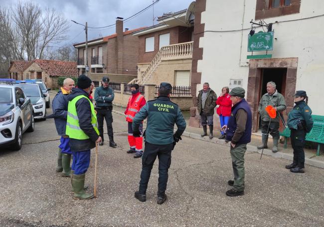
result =
[[[0,40],[4,39],[3,45],[12,49],[11,59],[26,57],[27,60],[46,56],[44,53],[49,46],[66,40],[65,34],[69,28],[62,14],[50,8],[41,11],[31,1],[19,1],[10,10],[0,7],[2,24],[5,26],[1,26],[0,31],[5,32],[0,34]]]

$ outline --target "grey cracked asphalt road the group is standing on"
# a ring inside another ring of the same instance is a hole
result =
[[[50,111],[48,111],[50,112]],[[147,202],[134,198],[141,159],[127,154],[127,124],[114,114],[115,142],[99,147],[96,199],[72,199],[70,179],[55,172],[59,137],[52,119],[37,121],[23,135],[20,151],[0,152],[0,226],[176,227],[324,226],[324,170],[305,174],[284,168],[289,161],[246,153],[245,195],[229,198],[233,178],[229,147],[183,138],[172,152],[168,200],[158,205],[155,165]],[[93,191],[94,152],[86,183]]]

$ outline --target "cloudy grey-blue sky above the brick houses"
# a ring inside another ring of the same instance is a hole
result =
[[[27,0],[20,0],[21,2]],[[88,26],[101,27],[116,22],[116,17],[127,18],[148,5],[152,0],[31,0],[41,9],[55,8],[62,13],[70,23],[68,40],[66,43],[77,43],[85,40],[83,26],[71,22],[75,20]],[[193,0],[160,0],[154,5],[154,16],[161,16],[163,12],[179,11],[189,6]],[[17,0],[0,0],[1,6],[16,4]],[[157,24],[157,21],[155,21]],[[153,25],[153,8],[149,8],[130,21],[124,22],[124,28],[134,29]],[[115,33],[115,27],[105,29],[88,29],[88,39],[94,39]]]

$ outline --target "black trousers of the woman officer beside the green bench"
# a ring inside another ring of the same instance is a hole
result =
[[[294,149],[294,163],[298,165],[299,168],[304,168],[305,164],[305,145],[306,132],[302,129],[296,130],[292,129],[290,134],[290,139],[292,142],[292,147]]]

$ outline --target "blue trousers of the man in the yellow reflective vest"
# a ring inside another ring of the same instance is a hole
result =
[[[74,170],[74,174],[85,174],[90,165],[90,150],[72,152],[73,161],[71,169]]]

